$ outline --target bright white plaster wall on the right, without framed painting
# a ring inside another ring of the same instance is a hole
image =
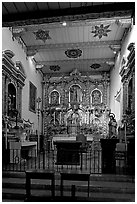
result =
[[[118,121],[118,123],[122,119],[122,113],[123,113],[123,108],[122,108],[123,107],[123,87],[122,87],[121,76],[119,75],[119,72],[121,69],[121,62],[122,62],[123,56],[127,57],[129,54],[127,47],[131,42],[135,42],[135,26],[133,26],[132,29],[128,32],[128,35],[126,36],[122,44],[121,52],[118,53],[115,59],[115,66],[110,72],[110,109],[111,109],[111,112],[115,114],[116,120]],[[120,102],[117,102],[115,98],[118,91],[120,91],[121,93]]]

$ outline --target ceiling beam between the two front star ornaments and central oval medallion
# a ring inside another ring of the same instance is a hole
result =
[[[27,52],[34,51],[44,51],[50,49],[66,49],[66,48],[88,48],[88,47],[109,47],[109,46],[121,46],[121,42],[119,40],[115,41],[93,41],[93,42],[80,42],[80,43],[58,43],[58,44],[45,44],[45,45],[33,45],[27,46]]]

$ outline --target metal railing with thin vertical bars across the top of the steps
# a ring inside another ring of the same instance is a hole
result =
[[[108,153],[109,154],[109,153]],[[115,173],[134,174],[134,162],[129,166],[126,153],[114,152]],[[61,152],[55,150],[42,151],[36,150],[22,152],[21,150],[7,150],[2,155],[3,171],[26,171],[27,169],[50,169],[57,172],[62,170],[81,170],[91,174],[101,174],[102,150],[81,150]],[[107,164],[105,164],[107,165]],[[109,172],[111,173],[111,172]],[[114,173],[114,172],[113,172]]]

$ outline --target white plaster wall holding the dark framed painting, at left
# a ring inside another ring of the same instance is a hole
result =
[[[32,82],[37,87],[37,97],[42,98],[42,76],[35,69],[31,58],[26,58],[26,53],[22,45],[16,39],[12,40],[12,33],[8,28],[2,29],[2,51],[11,50],[15,56],[13,62],[20,61],[24,67],[26,79],[25,86],[22,90],[22,118],[30,120],[34,123],[34,131],[38,129],[37,113],[29,111],[29,82]],[[41,117],[40,117],[40,132],[41,132]]]

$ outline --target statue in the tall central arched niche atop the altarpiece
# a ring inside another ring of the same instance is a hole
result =
[[[82,101],[82,92],[78,85],[73,85],[70,88],[70,102],[81,102]]]

